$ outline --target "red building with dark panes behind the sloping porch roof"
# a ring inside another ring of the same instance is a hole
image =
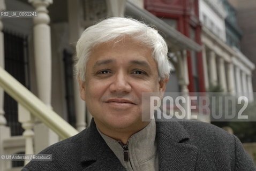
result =
[[[201,45],[198,0],[145,0],[145,9]],[[201,52],[187,51],[189,91],[205,92]]]

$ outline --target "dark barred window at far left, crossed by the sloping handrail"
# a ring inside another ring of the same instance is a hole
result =
[[[29,63],[27,36],[4,30],[5,70],[29,89]],[[11,136],[22,135],[24,129],[18,122],[18,103],[8,94],[4,94],[4,111]]]

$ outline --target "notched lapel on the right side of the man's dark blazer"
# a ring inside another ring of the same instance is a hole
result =
[[[177,121],[156,122],[159,170],[194,170],[197,147],[186,144],[189,134]]]

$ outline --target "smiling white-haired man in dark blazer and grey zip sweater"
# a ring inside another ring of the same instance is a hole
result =
[[[255,170],[238,138],[208,123],[142,122],[142,92],[164,92],[167,45],[139,21],[110,18],[77,43],[81,99],[93,115],[76,136],[25,170]]]

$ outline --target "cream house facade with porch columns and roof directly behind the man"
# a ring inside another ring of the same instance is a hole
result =
[[[36,18],[0,18],[0,66],[62,118],[50,112],[52,116],[43,119],[31,112],[31,106],[24,105],[17,93],[0,89],[0,153],[37,153],[59,141],[66,128],[58,126],[56,131],[53,126],[52,131],[51,118],[69,122],[78,131],[89,125],[92,116],[73,77],[75,46],[83,30],[104,17],[129,16],[159,29],[168,42],[169,54],[178,57],[174,86],[189,91],[186,53],[199,52],[200,45],[146,11],[144,1],[1,0],[0,9],[37,11]],[[0,160],[0,170],[20,170],[23,165]]]

